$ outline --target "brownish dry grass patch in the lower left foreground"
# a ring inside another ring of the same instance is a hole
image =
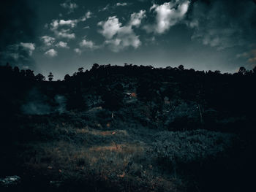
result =
[[[176,191],[172,178],[154,172],[146,153],[148,146],[143,143],[113,142],[89,147],[61,141],[41,143],[34,150],[36,153],[28,158],[26,166],[54,175],[56,180],[93,178],[108,185],[125,185],[124,191]]]

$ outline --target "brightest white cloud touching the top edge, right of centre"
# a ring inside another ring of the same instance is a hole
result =
[[[184,19],[188,9],[189,1],[170,1],[164,4],[153,4],[150,11],[157,13],[156,23],[144,26],[148,33],[163,34]]]

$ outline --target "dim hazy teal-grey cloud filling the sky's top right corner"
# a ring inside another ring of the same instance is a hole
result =
[[[244,46],[255,38],[256,6],[253,1],[195,1],[187,26],[194,30],[192,39],[223,50]]]

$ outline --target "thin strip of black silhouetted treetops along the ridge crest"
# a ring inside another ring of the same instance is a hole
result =
[[[15,80],[18,78],[23,78],[26,80],[31,80],[31,81],[53,81],[54,75],[52,72],[49,72],[48,76],[45,77],[42,74],[34,74],[34,71],[31,69],[19,69],[18,66],[15,66],[12,68],[9,63],[6,64],[6,66],[0,66],[0,72],[1,72],[1,79],[4,80]],[[81,76],[85,77],[91,74],[97,74],[99,76],[104,76],[108,75],[110,73],[115,74],[126,74],[126,75],[138,75],[141,74],[141,72],[149,72],[149,73],[160,73],[162,75],[173,75],[173,77],[176,77],[184,74],[184,75],[205,75],[209,77],[214,77],[214,76],[222,76],[222,77],[230,77],[230,76],[251,76],[256,74],[256,66],[252,70],[246,70],[244,66],[241,66],[238,69],[238,72],[235,73],[224,73],[222,74],[219,70],[216,71],[196,71],[195,69],[184,69],[183,65],[180,65],[178,67],[171,67],[167,66],[165,68],[154,68],[154,66],[138,66],[138,65],[133,65],[133,64],[124,64],[124,66],[111,66],[110,64],[108,65],[99,65],[99,64],[94,64],[90,70],[84,71],[83,67],[78,68],[78,72],[73,73],[71,76],[69,74],[66,74],[64,76],[64,80],[71,80],[75,78],[79,78]],[[61,81],[61,80],[58,80]]]

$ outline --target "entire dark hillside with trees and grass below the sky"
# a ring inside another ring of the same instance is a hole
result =
[[[1,66],[0,178],[24,191],[248,191],[255,69]]]

